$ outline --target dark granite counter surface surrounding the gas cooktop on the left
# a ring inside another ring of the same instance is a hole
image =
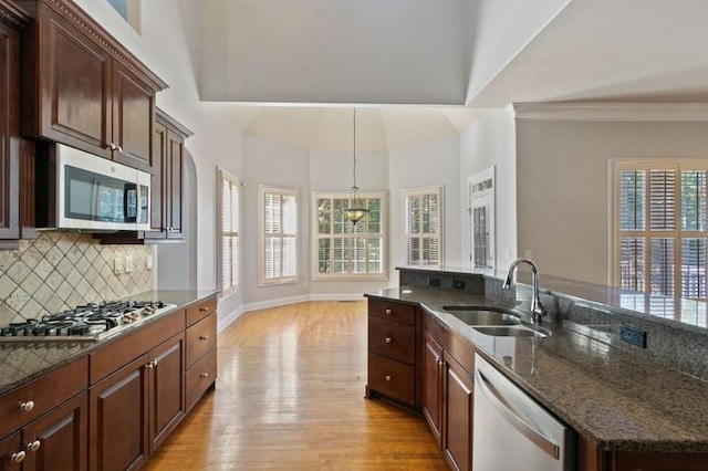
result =
[[[23,371],[14,376],[12,379],[4,379],[0,376],[0,396],[12,391],[19,387],[22,387],[34,379],[38,379],[49,373],[60,369],[61,367],[69,365],[70,363],[91,354],[92,352],[102,348],[113,342],[124,338],[126,335],[134,333],[136,329],[143,328],[150,323],[163,318],[166,315],[174,313],[176,310],[188,307],[191,304],[204,301],[218,292],[215,290],[152,290],[145,291],[131,296],[125,296],[124,300],[160,300],[168,304],[176,304],[174,310],[165,311],[157,316],[146,318],[138,324],[136,328],[129,328],[122,331],[121,333],[110,336],[101,341],[58,341],[58,342],[2,342],[0,341],[0,364],[12,362],[14,357],[18,357],[17,362],[21,362],[22,358],[31,355],[35,350],[55,350],[55,359],[48,359],[35,366],[25,367]],[[15,353],[13,358],[10,358],[11,353]],[[17,369],[22,368],[21,366]],[[2,368],[0,368],[0,371]]]

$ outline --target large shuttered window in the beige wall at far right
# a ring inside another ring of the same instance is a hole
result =
[[[707,297],[708,160],[615,161],[613,282]]]

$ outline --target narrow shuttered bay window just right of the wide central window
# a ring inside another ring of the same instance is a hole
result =
[[[403,191],[406,264],[440,265],[442,187]]]

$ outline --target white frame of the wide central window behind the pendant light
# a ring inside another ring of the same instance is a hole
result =
[[[337,234],[334,232],[334,224],[332,224],[332,229],[329,234],[320,234],[320,224],[317,221],[317,200],[319,199],[348,199],[348,191],[312,191],[311,193],[311,202],[312,202],[312,218],[311,218],[311,278],[313,281],[343,281],[343,280],[387,280],[388,279],[388,248],[386,245],[386,241],[388,238],[388,198],[386,191],[361,191],[360,196],[364,200],[368,199],[381,199],[381,236],[369,236],[368,232],[356,233],[358,237],[377,237],[381,239],[381,272],[376,273],[352,273],[351,271],[347,273],[320,273],[319,271],[319,242],[320,239],[331,239],[334,240],[337,237],[342,237],[342,234]],[[333,211],[336,211],[333,209]],[[368,216],[364,217],[360,222],[356,223],[360,228],[360,224],[367,224]],[[346,222],[347,227],[351,229],[352,223]],[[344,233],[344,237],[354,237],[350,236],[353,232],[347,231]],[[332,253],[334,253],[332,251]],[[351,263],[351,262],[350,262]]]

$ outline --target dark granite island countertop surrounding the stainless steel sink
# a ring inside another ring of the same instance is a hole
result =
[[[704,380],[565,329],[551,316],[542,324],[548,337],[492,337],[442,310],[497,305],[483,295],[417,286],[366,295],[420,304],[602,449],[708,452]]]

